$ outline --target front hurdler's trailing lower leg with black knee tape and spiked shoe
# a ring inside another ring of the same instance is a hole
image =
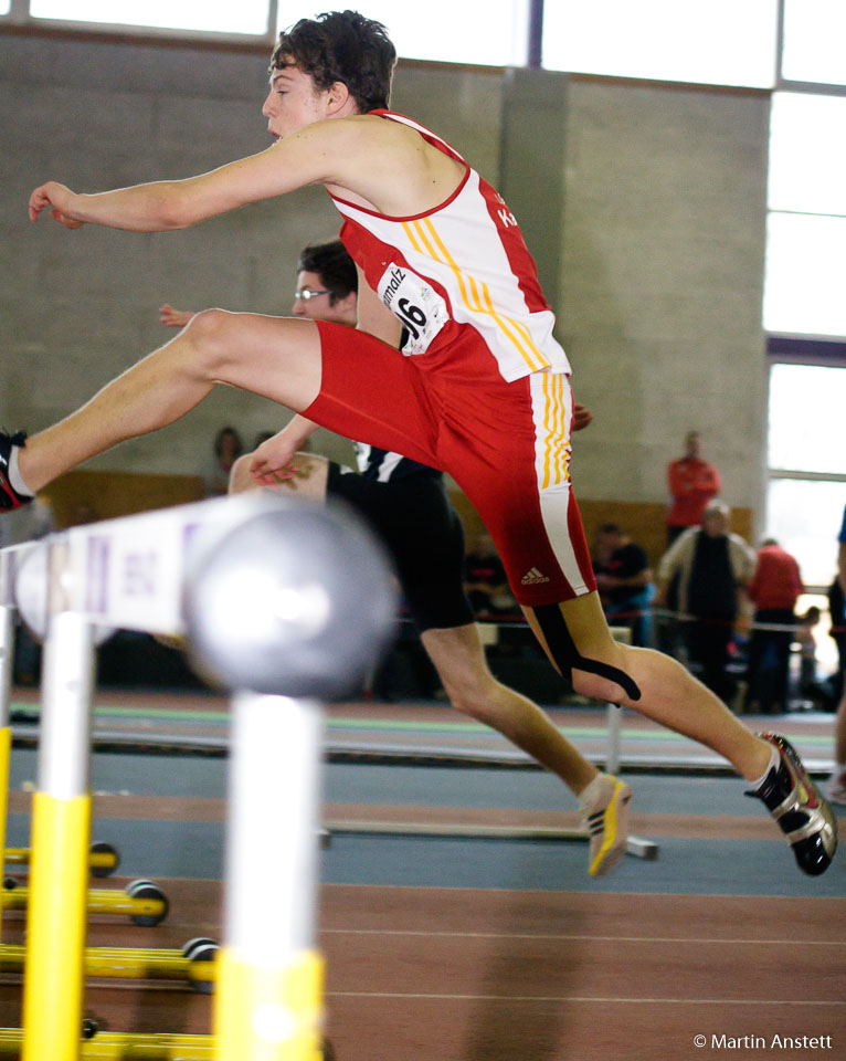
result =
[[[831,865],[837,822],[791,745],[757,737],[679,663],[652,649],[617,644],[595,593],[525,608],[539,641],[577,691],[628,707],[723,755],[752,787],[812,875]]]

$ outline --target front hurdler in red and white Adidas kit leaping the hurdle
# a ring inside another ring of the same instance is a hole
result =
[[[322,185],[360,270],[359,330],[219,309],[21,444],[0,481],[17,506],[56,475],[192,409],[218,382],[346,435],[448,471],[487,525],[538,640],[577,691],[635,707],[723,755],[768,807],[806,873],[831,864],[831,807],[793,748],[748,731],[676,661],[616,643],[599,605],[570,486],[570,366],[517,220],[450,145],[387,109],[395,51],[353,11],[281,34],[263,113],[276,143],[184,180],[30,198],[68,229],[181,229]],[[400,333],[409,339],[398,353]],[[404,356],[403,356],[404,355]],[[289,440],[255,453],[273,482]]]

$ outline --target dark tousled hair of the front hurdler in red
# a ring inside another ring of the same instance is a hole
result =
[[[358,11],[327,11],[279,33],[271,71],[292,63],[318,88],[345,84],[360,114],[387,107],[396,49],[381,22]]]

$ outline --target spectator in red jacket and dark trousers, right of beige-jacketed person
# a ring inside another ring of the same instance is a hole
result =
[[[796,560],[774,538],[768,538],[758,550],[755,572],[747,587],[755,608],[747,669],[750,711],[772,715],[787,708],[790,647],[796,601],[804,591]],[[786,629],[766,629],[772,626]]]

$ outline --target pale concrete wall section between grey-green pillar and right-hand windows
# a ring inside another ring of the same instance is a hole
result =
[[[690,429],[732,505],[763,490],[764,94],[573,80],[559,328],[577,491],[659,501]]]

